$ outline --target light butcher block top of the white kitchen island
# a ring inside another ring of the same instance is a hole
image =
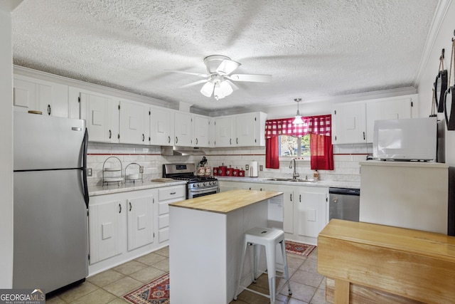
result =
[[[282,193],[283,192],[237,189],[200,196],[196,199],[178,201],[169,204],[169,206],[227,214],[228,212],[235,211],[250,204],[255,204],[259,201],[264,201],[265,199],[270,199]]]

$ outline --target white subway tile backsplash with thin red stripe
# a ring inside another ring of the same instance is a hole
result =
[[[208,159],[208,167],[218,167],[225,164],[238,169],[245,169],[245,164],[257,161],[264,170],[259,171],[259,177],[291,177],[289,159],[280,159],[279,169],[265,167],[265,148],[203,148]],[[359,162],[365,160],[371,150],[365,147],[334,147],[333,171],[319,170],[319,178],[343,182],[360,182]],[[164,156],[159,146],[119,145],[90,142],[87,150],[87,167],[92,168],[92,177],[88,177],[90,186],[102,185],[102,167],[108,157],[115,156],[122,162],[125,169],[134,162],[144,167],[144,180],[162,177],[163,164],[177,162],[192,162],[196,165],[202,156]],[[133,166],[128,167],[128,169]],[[297,172],[301,177],[313,177],[314,170],[310,169],[309,159],[297,162]],[[124,172],[123,172],[124,173]],[[129,172],[131,173],[131,172]],[[247,173],[246,173],[247,174]]]

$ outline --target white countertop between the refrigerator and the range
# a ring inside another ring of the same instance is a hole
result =
[[[132,182],[127,182],[126,184],[119,184],[119,185],[117,183],[109,183],[108,185],[105,185],[105,186],[88,187],[88,192],[89,192],[90,196],[95,196],[95,195],[135,191],[135,190],[141,190],[141,189],[176,186],[179,184],[186,184],[186,181],[151,182],[149,180],[144,180],[144,182],[136,181],[136,182],[134,182],[134,184]]]

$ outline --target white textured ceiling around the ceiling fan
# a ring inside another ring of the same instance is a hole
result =
[[[320,100],[414,85],[437,0],[25,0],[14,63],[203,110]],[[272,83],[206,98],[203,58]]]

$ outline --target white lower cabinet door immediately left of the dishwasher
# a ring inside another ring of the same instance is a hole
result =
[[[295,192],[294,192],[295,193]],[[327,194],[325,188],[300,190],[294,204],[294,224],[299,236],[317,238],[326,226]]]

